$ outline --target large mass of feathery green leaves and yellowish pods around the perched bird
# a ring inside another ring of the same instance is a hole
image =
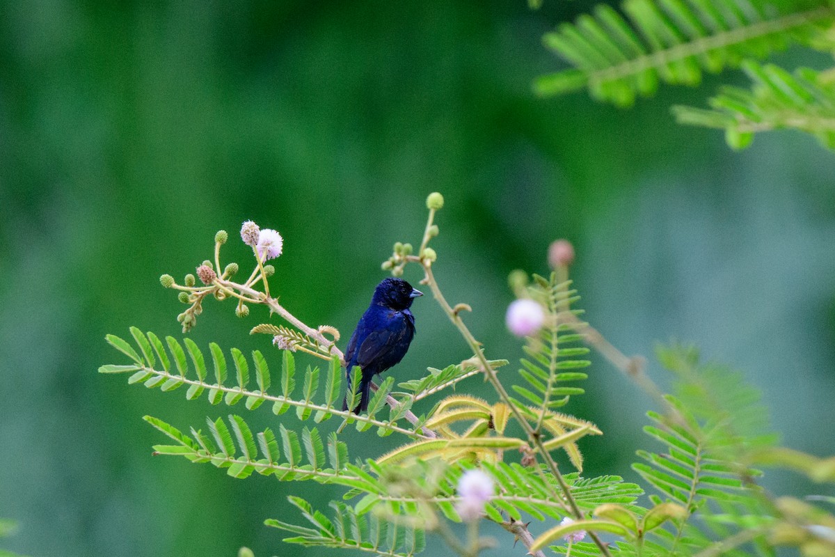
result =
[[[430,210],[422,253],[433,237],[433,215]],[[329,332],[338,338],[336,329],[313,329],[289,314],[288,321],[307,334],[270,325],[255,330],[281,337],[276,342],[286,348],[281,352],[281,377],[275,382],[281,394],[270,392],[269,363],[259,351],[246,357],[231,348],[229,359],[211,343],[212,381],[209,365],[195,342],[186,338],[180,343],[174,337],[162,342],[136,327],[130,329],[134,343],[107,337],[130,363],[102,366],[99,371],[129,372],[129,382],[159,386],[163,391],[188,385],[187,398],[196,399],[207,392],[212,404],[234,406],[245,401],[244,408],[255,410],[271,403],[267,407],[276,416],[295,408],[296,418],[303,422],[312,418],[318,424],[335,416],[342,418],[337,431],[325,435],[320,426],[304,425],[298,432],[281,421],[277,433],[271,428],[254,432],[237,414],[207,419],[207,433],[190,428],[189,434],[159,418],[145,418],[174,442],[155,445],[154,454],[212,463],[240,479],[260,473],[282,481],[335,484],[346,490],[343,499],[352,504],[332,502],[333,519],[313,509],[305,499],[291,496],[291,504],[307,524],[266,521],[294,534],[285,539],[288,543],[408,557],[424,549],[426,532],[435,531],[458,554],[474,557],[483,545],[477,527],[484,517],[516,535],[521,528],[527,534],[524,539],[530,552],[539,552],[561,539],[568,539],[569,544],[564,549],[553,546],[557,553],[568,555],[574,550],[574,555],[602,557],[705,557],[719,553],[743,557],[750,554],[749,549],[772,557],[774,548],[781,544],[797,546],[808,555],[822,554],[819,549],[835,549],[835,542],[827,539],[835,532],[835,516],[797,499],[770,498],[757,485],[761,473],[755,468],[757,462],[792,462],[793,468],[810,477],[828,481],[835,475],[831,461],[776,450],[759,393],[747,386],[740,374],[701,363],[691,347],[658,350],[658,359],[676,377],[676,389],[659,397],[663,403],[660,412],[648,413],[651,423],[645,433],[661,443],[663,450],[638,451],[643,462],[633,466],[645,484],[658,491],[650,495],[649,504],[639,500],[644,494],[640,486],[625,483],[619,476],[584,478],[579,473],[561,473],[551,455],[554,449],[564,449],[581,469],[577,442],[585,435],[602,433],[592,423],[556,411],[570,396],[584,392],[562,385],[586,378],[578,370],[590,362],[579,357],[589,349],[577,343],[602,342],[600,333],[579,320],[582,311],[571,307],[579,296],[565,280],[567,268],[558,266],[549,278],[534,275],[531,286],[524,284],[524,278],[514,284],[517,296],[529,296],[544,308],[542,326],[524,347],[527,357],[521,361],[519,376],[527,386],[513,387],[533,404],[529,406],[510,397],[498,380],[495,367],[507,362],[484,357],[480,343],[463,325],[459,313],[468,306],[449,306],[443,299],[431,273],[436,259],[411,256],[411,249],[401,246],[399,260],[392,261],[392,272],[401,272],[408,262],[423,266],[424,281],[463,333],[474,356],[443,369],[428,368],[426,377],[400,384],[407,392],[394,392],[394,377],[387,376],[365,414],[336,406],[342,392],[341,352],[322,337],[323,332]],[[286,311],[275,299],[266,299],[266,303],[275,311]],[[536,304],[530,305],[536,309]],[[296,350],[328,360],[326,371],[307,366],[302,375],[291,353]],[[622,355],[615,359],[632,362]],[[627,367],[624,371],[642,384],[650,382],[638,377],[642,373],[639,368],[623,365]],[[355,367],[350,374],[348,408],[357,403],[360,371]],[[410,412],[423,397],[456,387],[475,374],[483,374],[492,383],[498,401],[453,394],[421,417]],[[230,377],[234,377],[234,384],[228,384]],[[511,418],[522,429],[521,435],[510,433]],[[404,419],[410,425],[402,424]],[[406,443],[376,459],[350,463],[347,445],[338,435],[352,423],[359,431],[376,428],[380,436],[401,434]],[[522,455],[518,463],[508,458],[517,452]],[[478,473],[473,473],[476,468]],[[692,519],[694,516],[698,520]],[[531,540],[526,526],[520,526],[529,519],[549,527]],[[447,521],[468,522],[466,547],[449,534]],[[593,544],[574,540],[586,534]],[[604,544],[598,534],[615,534],[617,539],[614,544]]]

